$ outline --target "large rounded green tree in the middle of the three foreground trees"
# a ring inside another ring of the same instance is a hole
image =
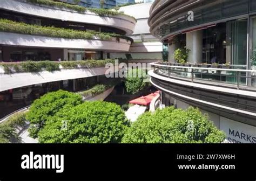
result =
[[[119,143],[129,122],[115,103],[86,101],[63,109],[39,131],[41,143]]]

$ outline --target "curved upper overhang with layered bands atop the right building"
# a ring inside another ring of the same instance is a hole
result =
[[[246,18],[255,14],[255,6],[252,0],[160,0],[151,6],[148,24],[154,36],[165,40],[179,33]],[[193,21],[188,21],[188,11],[193,11]]]

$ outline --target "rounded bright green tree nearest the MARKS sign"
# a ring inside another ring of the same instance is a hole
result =
[[[197,108],[187,110],[167,107],[156,113],[144,113],[132,123],[123,143],[221,143],[223,131]]]

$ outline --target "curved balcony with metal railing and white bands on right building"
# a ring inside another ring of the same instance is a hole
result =
[[[256,71],[153,63],[151,83],[208,112],[256,126]]]

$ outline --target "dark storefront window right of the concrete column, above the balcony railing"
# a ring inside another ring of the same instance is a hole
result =
[[[247,65],[247,23],[247,19],[239,19],[205,29],[203,62],[207,64],[229,63],[237,65],[235,68],[245,68]]]

